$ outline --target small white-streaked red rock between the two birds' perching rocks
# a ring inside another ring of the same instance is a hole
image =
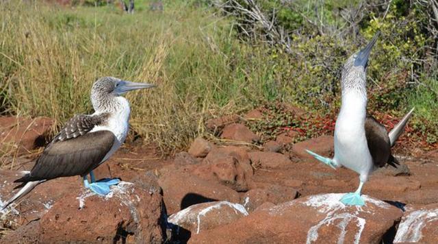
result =
[[[231,223],[246,215],[248,212],[240,204],[225,201],[206,202],[192,205],[170,215],[168,222],[189,230],[192,234],[199,234],[204,230]]]

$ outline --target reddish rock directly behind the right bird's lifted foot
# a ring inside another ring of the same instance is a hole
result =
[[[313,138],[307,141],[302,141],[300,143],[295,143],[292,147],[292,151],[298,157],[312,160],[313,162],[318,162],[313,156],[307,154],[306,149],[313,151],[321,156],[331,157],[334,153],[333,136],[320,136],[318,138]]]

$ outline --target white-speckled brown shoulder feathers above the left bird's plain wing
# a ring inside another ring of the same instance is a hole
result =
[[[66,141],[71,138],[83,136],[87,132],[90,132],[94,126],[103,124],[109,115],[110,114],[108,113],[97,115],[75,115],[75,117],[70,119],[70,121],[64,125],[64,128],[62,128],[60,133],[53,137],[51,143]]]

